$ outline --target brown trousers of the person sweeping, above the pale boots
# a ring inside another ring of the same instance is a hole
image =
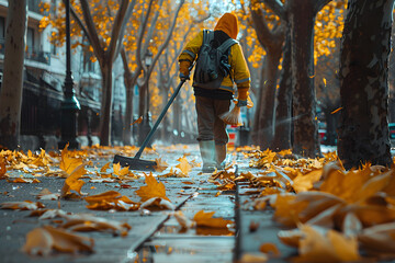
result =
[[[198,140],[215,140],[215,145],[226,145],[229,140],[226,124],[219,115],[229,111],[229,100],[196,98]]]

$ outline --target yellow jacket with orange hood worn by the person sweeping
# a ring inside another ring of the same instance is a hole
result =
[[[217,22],[214,31],[221,30],[229,37],[236,38],[238,34],[237,18],[234,14],[226,13]],[[201,31],[192,41],[190,41],[179,56],[180,71],[185,72],[188,67],[193,64],[199,55],[200,47],[203,44],[203,31]],[[235,44],[230,47],[228,57],[230,65],[230,76],[224,78],[219,89],[227,90],[234,93],[234,82],[237,89],[244,90],[246,93],[250,87],[250,73],[244,57],[241,46]],[[232,77],[232,78],[230,78]],[[242,93],[245,93],[242,92]],[[247,99],[247,98],[246,98]]]

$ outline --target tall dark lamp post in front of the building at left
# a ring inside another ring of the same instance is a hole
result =
[[[61,139],[59,149],[69,144],[69,149],[78,149],[77,141],[77,112],[81,110],[76,98],[71,75],[71,50],[70,50],[70,1],[65,1],[66,11],[66,78],[64,83],[64,101],[61,102]]]

